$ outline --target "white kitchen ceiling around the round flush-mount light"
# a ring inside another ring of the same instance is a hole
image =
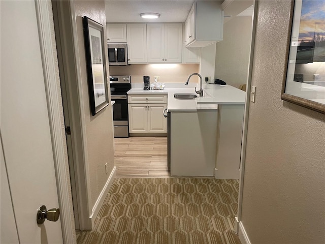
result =
[[[105,1],[106,22],[185,22],[193,2],[192,0]],[[253,3],[252,0],[225,0],[220,2],[223,2],[224,15],[233,17]],[[140,13],[145,12],[159,13],[160,18],[143,19],[140,17]],[[251,15],[252,11],[250,12]]]

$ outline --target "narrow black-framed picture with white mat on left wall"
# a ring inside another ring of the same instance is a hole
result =
[[[90,110],[94,116],[109,105],[104,52],[104,26],[83,17]]]

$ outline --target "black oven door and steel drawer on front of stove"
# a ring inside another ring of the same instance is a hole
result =
[[[128,137],[127,95],[111,95],[113,105],[113,124],[115,137]]]

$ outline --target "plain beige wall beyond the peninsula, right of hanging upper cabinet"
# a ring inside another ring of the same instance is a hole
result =
[[[235,17],[223,26],[223,41],[217,43],[215,78],[239,87],[246,84],[252,18]]]

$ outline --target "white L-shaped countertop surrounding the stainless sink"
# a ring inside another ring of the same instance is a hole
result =
[[[194,87],[180,85],[178,86],[179,88],[168,88],[168,84],[166,86],[163,90],[132,88],[127,94],[167,94],[169,112],[217,110],[218,104],[245,104],[245,92],[230,85],[204,84],[203,97],[198,97],[194,100],[174,99],[175,93],[196,94]]]

